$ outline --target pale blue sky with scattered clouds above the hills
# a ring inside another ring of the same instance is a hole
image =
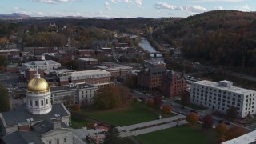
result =
[[[0,14],[110,18],[187,17],[210,10],[256,11],[256,0],[1,0]]]

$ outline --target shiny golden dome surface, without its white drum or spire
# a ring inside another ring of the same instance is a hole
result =
[[[33,78],[30,80],[27,86],[27,90],[33,92],[42,92],[49,90],[49,85],[43,78]]]

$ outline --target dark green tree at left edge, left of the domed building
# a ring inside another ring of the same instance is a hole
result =
[[[10,99],[7,90],[0,86],[0,111],[10,110]]]

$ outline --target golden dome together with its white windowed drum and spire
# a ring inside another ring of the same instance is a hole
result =
[[[32,114],[47,114],[51,111],[50,88],[37,72],[26,90],[26,107]]]

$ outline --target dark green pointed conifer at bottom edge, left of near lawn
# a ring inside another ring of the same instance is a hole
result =
[[[105,134],[103,144],[119,144],[120,143],[120,133],[118,129],[111,125],[110,129]]]

